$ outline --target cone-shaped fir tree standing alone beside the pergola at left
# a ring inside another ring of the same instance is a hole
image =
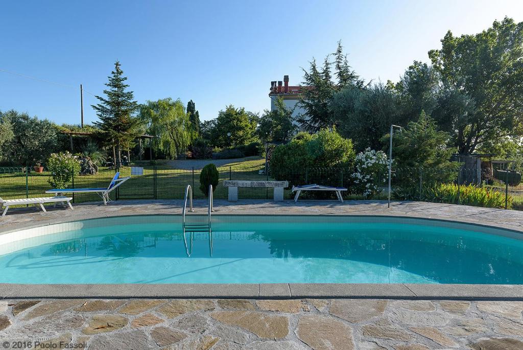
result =
[[[127,77],[123,76],[120,62],[115,62],[115,70],[111,72],[109,82],[104,90],[107,98],[96,96],[100,101],[92,105],[100,121],[95,121],[99,128],[99,135],[110,146],[116,146],[117,164],[121,164],[122,149],[130,149],[134,140],[142,131],[142,122],[134,116],[139,105],[134,100],[132,91],[126,91],[129,85],[125,83]]]

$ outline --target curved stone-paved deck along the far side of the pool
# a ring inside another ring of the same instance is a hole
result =
[[[195,214],[207,214],[207,200],[194,201]],[[35,208],[9,209],[0,217],[0,234],[66,221],[127,215],[181,214],[183,200],[119,200],[104,206],[101,202],[75,204],[74,210],[53,208],[48,212]],[[480,208],[418,201],[393,201],[387,208],[383,200],[292,200],[280,202],[240,199],[238,202],[214,201],[214,214],[238,215],[378,215],[457,220],[492,225],[523,232],[523,211]]]

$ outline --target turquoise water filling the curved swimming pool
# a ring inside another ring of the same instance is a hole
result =
[[[0,246],[0,283],[523,284],[518,234],[474,225],[215,216],[212,240],[207,232],[184,240],[179,220],[87,220]]]

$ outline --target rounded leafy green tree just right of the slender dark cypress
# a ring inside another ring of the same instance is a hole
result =
[[[218,147],[235,147],[256,140],[258,116],[245,108],[229,105],[221,110],[211,134],[211,143]],[[230,136],[228,135],[230,133]]]

